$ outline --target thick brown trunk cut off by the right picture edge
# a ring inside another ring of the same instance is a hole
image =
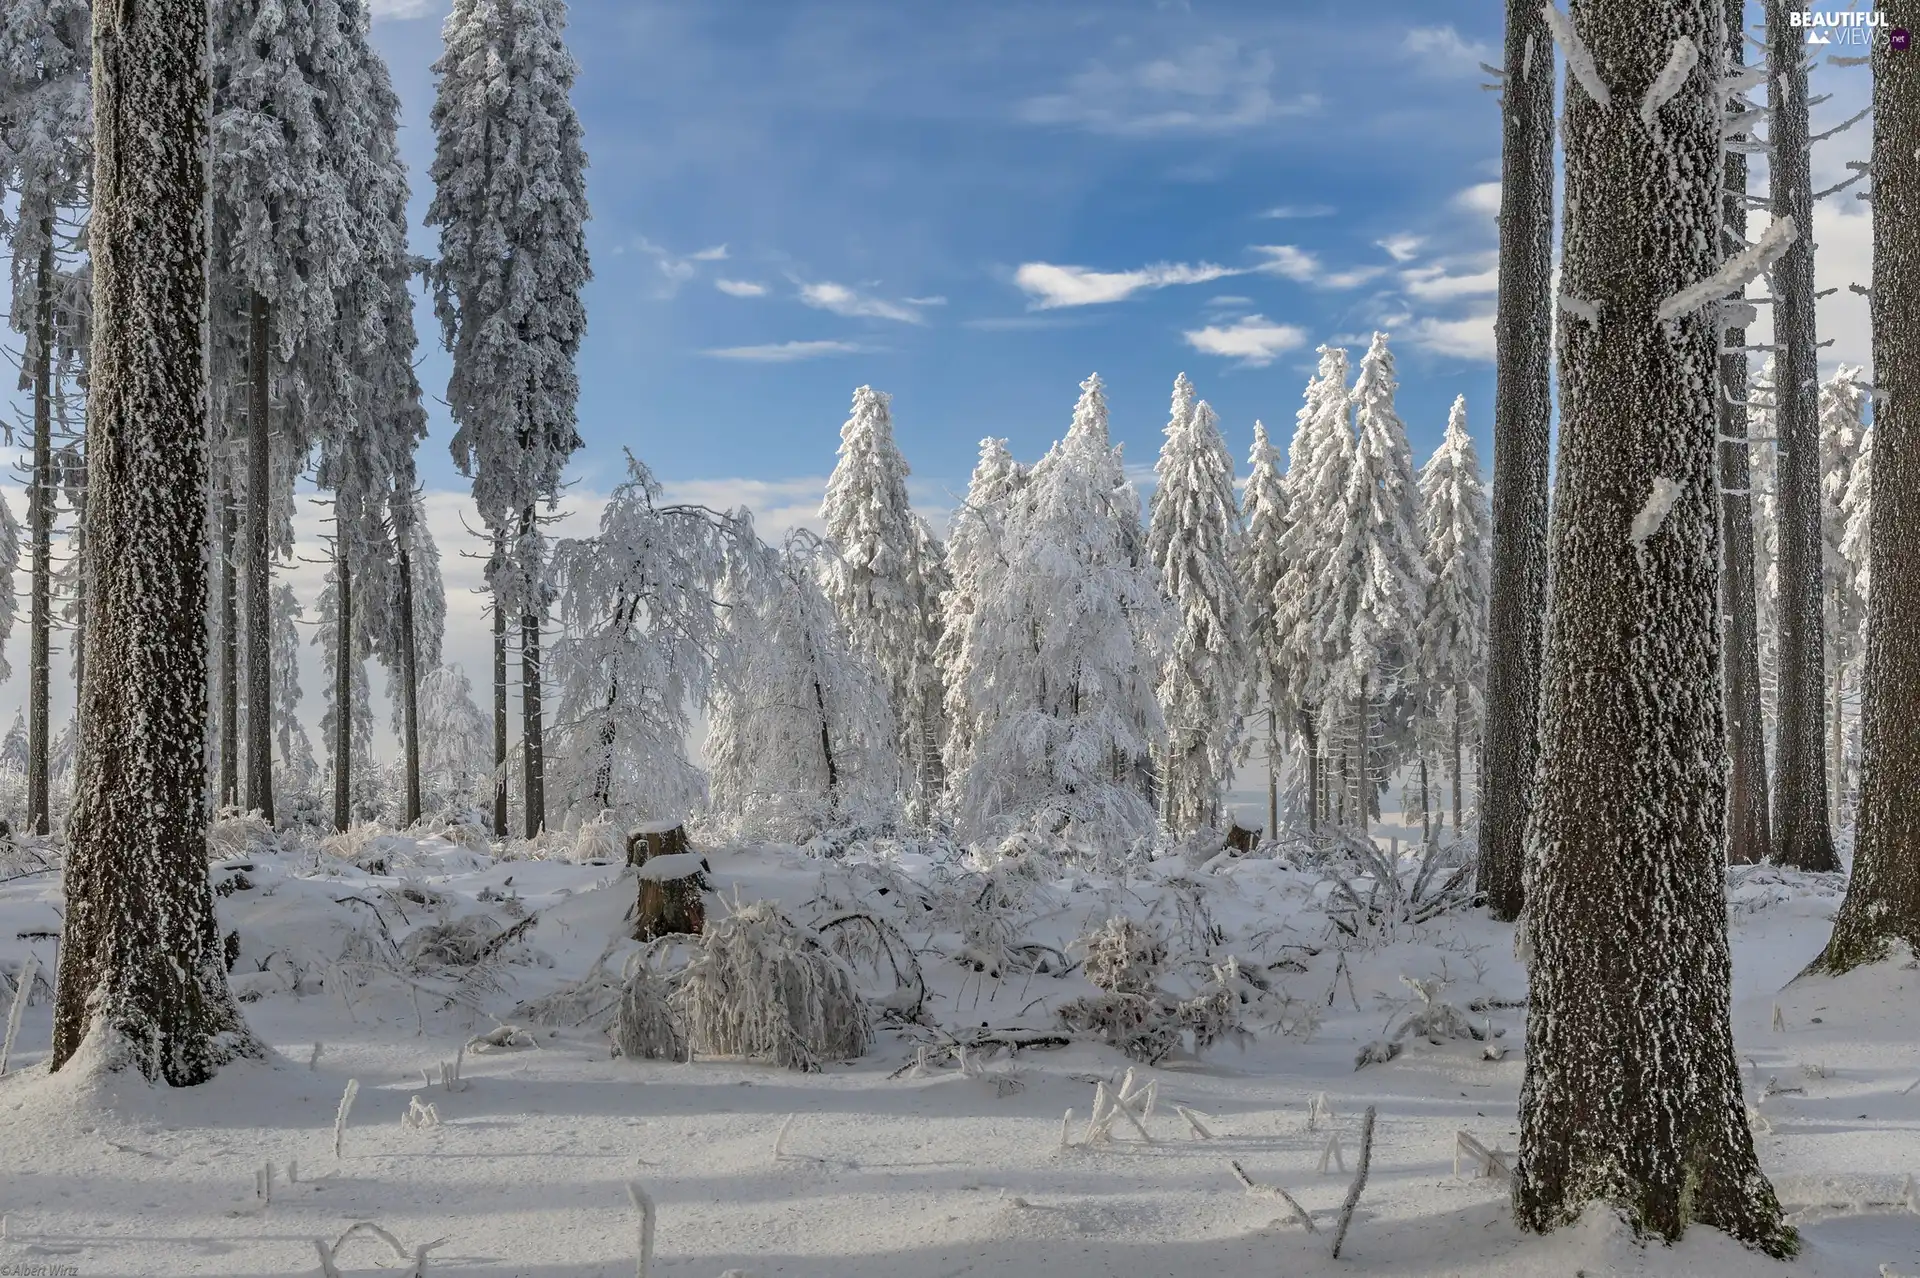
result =
[[[1920,29],[1920,0],[1882,0]],[[1874,478],[1853,879],[1816,967],[1920,952],[1920,54],[1874,48]]]

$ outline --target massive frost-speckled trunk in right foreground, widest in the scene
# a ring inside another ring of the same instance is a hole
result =
[[[1528,827],[1513,1205],[1795,1249],[1730,1025],[1720,764],[1722,0],[1584,0],[1561,40],[1563,276],[1551,610]],[[1620,246],[1632,244],[1632,253]]]

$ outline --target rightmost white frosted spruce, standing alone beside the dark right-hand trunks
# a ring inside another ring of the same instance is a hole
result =
[[[1463,806],[1461,748],[1478,745],[1486,679],[1486,597],[1492,512],[1480,459],[1467,434],[1467,397],[1453,401],[1446,436],[1421,470],[1427,604],[1419,627],[1421,716],[1452,745],[1453,833]],[[1421,756],[1425,768],[1425,754]]]

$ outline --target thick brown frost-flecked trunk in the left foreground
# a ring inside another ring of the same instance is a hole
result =
[[[52,1067],[261,1055],[207,885],[207,6],[94,12],[88,645]]]

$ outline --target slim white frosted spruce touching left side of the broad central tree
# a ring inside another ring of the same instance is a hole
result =
[[[979,599],[996,587],[1006,570],[1008,520],[1027,480],[1025,468],[1006,451],[1006,439],[981,439],[979,461],[968,482],[966,501],[954,510],[947,535],[948,585],[941,593],[941,641],[935,660],[945,689],[947,741],[941,766],[948,785],[973,764],[973,743],[993,723],[995,698],[968,677],[972,662],[983,656],[975,631]]]

